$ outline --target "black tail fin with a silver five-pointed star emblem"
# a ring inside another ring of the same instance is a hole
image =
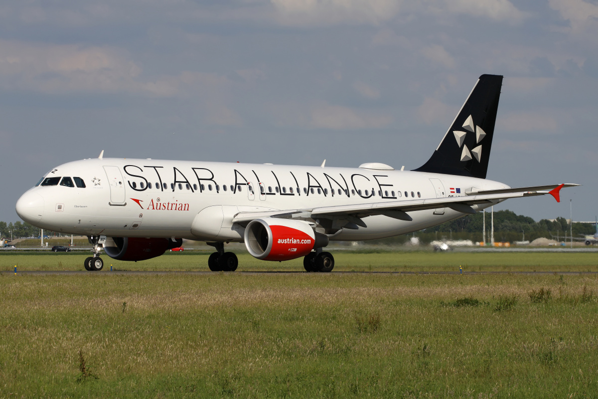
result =
[[[485,179],[501,86],[501,75],[481,75],[432,157],[414,170]]]

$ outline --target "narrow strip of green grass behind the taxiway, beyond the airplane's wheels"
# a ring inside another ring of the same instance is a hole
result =
[[[362,253],[332,251],[335,271],[373,270],[390,272],[417,272],[459,270],[465,271],[550,271],[598,272],[598,253],[582,252],[380,252]],[[166,252],[165,255],[141,262],[118,261],[102,255],[104,270],[208,270],[211,252]],[[0,254],[0,270],[84,270],[83,260],[91,252],[53,252],[16,255]],[[238,252],[238,271],[288,270],[302,271],[303,258],[268,262],[257,260],[247,252]]]

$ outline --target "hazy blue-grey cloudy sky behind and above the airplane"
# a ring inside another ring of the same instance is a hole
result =
[[[504,75],[487,178],[572,182],[495,207],[594,220],[598,1],[0,3],[0,220],[97,157],[415,169]],[[570,202],[572,200],[572,202]]]

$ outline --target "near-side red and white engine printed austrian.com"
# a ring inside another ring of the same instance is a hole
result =
[[[261,260],[290,260],[328,245],[328,237],[300,220],[256,219],[245,228],[245,247]]]

